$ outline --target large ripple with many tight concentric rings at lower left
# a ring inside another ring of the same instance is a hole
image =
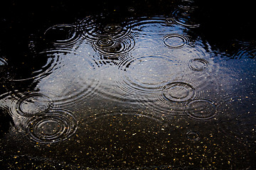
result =
[[[28,120],[26,135],[38,145],[50,145],[67,140],[77,130],[77,121],[68,111],[48,111]]]

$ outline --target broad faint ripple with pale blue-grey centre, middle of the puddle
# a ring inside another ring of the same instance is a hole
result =
[[[132,95],[154,96],[164,82],[176,77],[180,69],[176,61],[165,55],[142,55],[123,58],[119,69],[124,70],[119,88]]]

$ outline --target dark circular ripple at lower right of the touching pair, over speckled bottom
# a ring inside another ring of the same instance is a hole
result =
[[[186,114],[196,120],[209,120],[217,113],[217,103],[208,98],[196,98],[188,103]]]

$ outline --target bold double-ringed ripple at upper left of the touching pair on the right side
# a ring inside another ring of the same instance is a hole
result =
[[[162,94],[166,100],[183,102],[189,101],[193,96],[195,96],[195,89],[191,84],[172,82],[164,86]]]

